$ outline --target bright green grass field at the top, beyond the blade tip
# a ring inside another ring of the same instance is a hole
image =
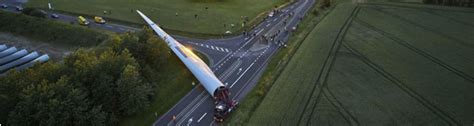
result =
[[[138,9],[170,30],[223,34],[227,30],[241,30],[241,16],[252,20],[287,0],[30,0],[27,6],[47,8],[48,2],[59,11],[142,24],[142,19],[133,11]],[[104,10],[111,14],[104,15]]]

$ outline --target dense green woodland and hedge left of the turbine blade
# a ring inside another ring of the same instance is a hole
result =
[[[17,20],[21,24],[38,23],[31,20],[41,19]],[[0,22],[5,23],[3,19]],[[51,24],[55,23],[45,25]],[[13,33],[29,36],[37,32],[18,27]],[[81,30],[83,28],[79,28],[78,33],[86,40],[102,37],[102,34],[89,36]],[[72,36],[71,43],[83,40]],[[151,80],[160,76],[164,65],[182,66],[169,51],[164,42],[145,29],[139,33],[112,35],[102,46],[78,49],[61,62],[9,71],[0,77],[0,122],[12,126],[117,125],[121,118],[147,108],[154,98],[155,88],[160,85]]]

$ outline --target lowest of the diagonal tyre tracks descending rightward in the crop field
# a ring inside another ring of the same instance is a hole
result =
[[[355,56],[358,57],[362,62],[364,62],[367,66],[375,70],[377,73],[382,75],[384,78],[395,84],[397,87],[402,89],[405,93],[410,95],[412,98],[414,98],[416,101],[421,103],[424,107],[429,109],[433,114],[444,120],[446,123],[449,125],[461,125],[458,121],[456,121],[454,118],[449,116],[446,112],[442,111],[440,108],[438,108],[436,105],[433,105],[429,100],[426,98],[422,97],[420,94],[418,94],[416,91],[408,87],[403,81],[399,80],[392,74],[388,73],[385,71],[382,67],[379,65],[375,64],[374,62],[370,61],[367,57],[362,55],[362,53],[358,52],[355,50],[353,47],[351,47],[347,43],[343,43],[343,46],[347,48],[350,52],[352,52]]]

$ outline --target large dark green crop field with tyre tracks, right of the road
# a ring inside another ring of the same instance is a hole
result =
[[[473,125],[474,9],[342,3],[247,123]]]

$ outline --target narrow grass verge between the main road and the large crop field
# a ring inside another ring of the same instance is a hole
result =
[[[227,122],[228,125],[244,125],[248,121],[250,115],[264,98],[267,90],[273,85],[273,80],[280,75],[288,61],[293,57],[294,52],[300,47],[302,41],[328,12],[327,10],[318,10],[315,7],[311,11],[318,11],[319,15],[308,14],[305,16],[298,25],[297,29],[299,30],[293,32],[293,35],[290,37],[288,47],[282,48],[272,57],[258,86],[245,97],[244,101],[239,105],[239,109],[233,112],[229,122]]]

